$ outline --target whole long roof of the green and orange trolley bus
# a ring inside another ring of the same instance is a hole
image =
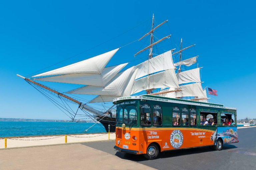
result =
[[[179,104],[186,104],[186,105],[196,105],[196,106],[205,106],[205,107],[214,107],[214,108],[237,110],[236,108],[225,107],[224,105],[221,105],[221,104],[198,102],[198,101],[176,99],[176,98],[168,98],[168,97],[155,96],[155,95],[119,97],[119,98],[114,99],[113,103],[116,104],[117,102],[120,102],[120,101],[123,101],[123,100],[135,100],[135,99],[154,100],[154,101],[161,101],[161,102],[170,102],[170,103],[179,103]]]

